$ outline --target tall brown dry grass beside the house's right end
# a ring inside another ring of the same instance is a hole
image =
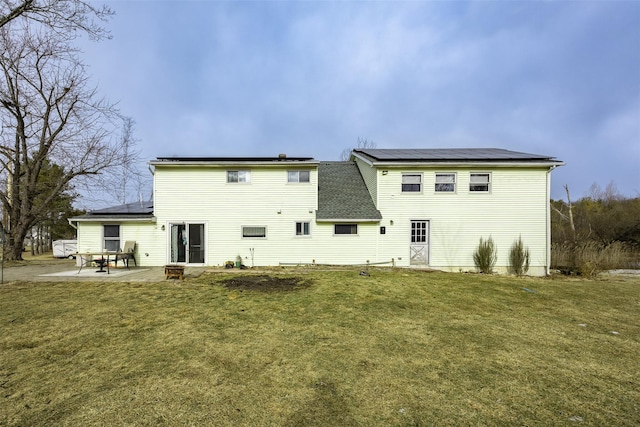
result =
[[[638,268],[638,255],[621,242],[555,243],[551,246],[551,265],[560,270],[594,276],[616,268]]]

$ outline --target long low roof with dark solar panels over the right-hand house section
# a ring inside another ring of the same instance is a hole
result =
[[[375,161],[384,162],[446,162],[446,161],[494,161],[494,162],[540,162],[556,161],[554,157],[521,153],[501,148],[444,148],[444,149],[360,149],[354,153],[364,154]]]

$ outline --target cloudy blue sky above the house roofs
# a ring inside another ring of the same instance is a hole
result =
[[[106,4],[83,58],[147,160],[495,147],[640,196],[640,2]]]

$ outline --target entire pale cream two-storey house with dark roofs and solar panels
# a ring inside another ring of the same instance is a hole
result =
[[[386,264],[474,271],[492,237],[496,269],[522,237],[548,273],[550,172],[561,161],[502,149],[361,149],[308,157],[161,157],[153,202],[71,218],[78,251],[136,242],[138,265]]]

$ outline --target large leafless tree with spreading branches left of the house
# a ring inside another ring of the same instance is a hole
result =
[[[123,158],[123,144],[111,137],[118,112],[89,86],[77,50],[55,31],[38,30],[0,28],[0,202],[6,219],[0,229],[9,237],[8,259],[22,259],[39,211],[71,180],[118,166]],[[61,171],[42,185],[47,162]]]

